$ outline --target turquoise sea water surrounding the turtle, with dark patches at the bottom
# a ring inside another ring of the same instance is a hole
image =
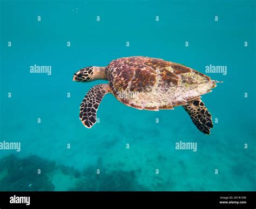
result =
[[[21,143],[19,152],[0,150],[1,191],[256,190],[255,1],[0,6],[0,143]],[[107,81],[73,82],[73,73],[132,55],[224,81],[202,97],[214,120],[211,135],[198,131],[182,107],[141,111],[111,94],[99,106],[100,122],[83,126],[80,102]],[[51,75],[30,73],[35,64],[51,66]],[[210,64],[226,66],[226,75],[206,73]],[[179,141],[197,142],[197,151],[175,149]]]

